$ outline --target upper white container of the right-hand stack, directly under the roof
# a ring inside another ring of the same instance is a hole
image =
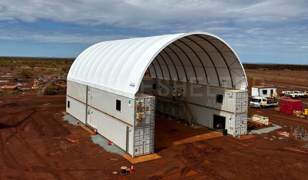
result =
[[[156,89],[152,89],[156,84]],[[190,83],[180,83],[175,81],[144,79],[140,85],[140,90],[146,93],[153,93],[163,97],[172,97],[172,91],[182,92],[182,96],[187,97],[187,101],[211,107],[217,110],[245,113],[248,106],[248,92],[223,89],[214,86],[197,85]],[[223,95],[222,103],[217,102],[217,95]],[[206,98],[200,98],[206,97]]]

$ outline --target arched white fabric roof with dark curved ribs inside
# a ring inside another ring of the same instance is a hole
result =
[[[67,80],[133,99],[147,69],[153,78],[247,88],[245,71],[234,50],[207,32],[95,44],[76,58]]]

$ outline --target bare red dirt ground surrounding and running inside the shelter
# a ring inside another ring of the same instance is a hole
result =
[[[290,84],[279,78],[265,82]],[[292,81],[298,85],[301,82]],[[249,81],[249,87],[252,83]],[[254,83],[259,85],[258,80]],[[303,101],[308,102],[308,98]],[[249,108],[248,116],[268,116],[285,131],[290,131],[291,125],[308,130],[308,117],[300,119],[273,110]],[[301,148],[306,141],[278,139],[282,136],[276,130],[246,139],[219,136],[178,144],[180,140],[213,132],[186,127],[182,122],[161,116],[156,117],[155,152],[162,158],[134,164],[136,172],[122,176],[120,167],[130,167],[129,161],[93,144],[87,131],[62,120],[63,111],[63,95],[26,92],[0,96],[0,179],[306,179],[308,176],[308,149]],[[113,166],[121,161],[124,163]],[[118,174],[112,174],[113,171]]]

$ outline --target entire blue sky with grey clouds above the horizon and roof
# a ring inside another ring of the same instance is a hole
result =
[[[218,35],[242,62],[308,64],[308,1],[0,0],[0,56],[76,58],[111,40]]]

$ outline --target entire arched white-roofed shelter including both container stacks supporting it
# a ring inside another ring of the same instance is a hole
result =
[[[179,89],[182,100],[172,99]],[[156,109],[245,134],[247,81],[234,50],[207,32],[116,40],[89,47],[69,70],[67,112],[132,157],[154,152]]]

